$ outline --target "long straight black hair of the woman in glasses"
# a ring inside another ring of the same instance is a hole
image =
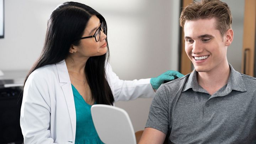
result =
[[[65,2],[52,12],[47,25],[43,50],[27,74],[24,85],[28,76],[34,70],[44,65],[55,64],[64,60],[69,54],[71,44],[79,45],[80,41],[76,41],[76,39],[82,36],[89,19],[93,15],[100,19],[103,32],[107,35],[105,18],[87,5],[78,2]],[[109,49],[104,55],[90,57],[85,66],[92,98],[97,104],[113,105],[114,102],[105,73],[105,63],[106,60],[108,61],[108,58]]]

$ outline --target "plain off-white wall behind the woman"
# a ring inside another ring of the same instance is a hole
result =
[[[5,0],[5,38],[0,69],[28,70],[44,43],[47,20],[64,0]],[[78,0],[100,12],[108,24],[110,60],[119,78],[133,80],[178,69],[179,0]],[[143,130],[151,98],[117,102]]]

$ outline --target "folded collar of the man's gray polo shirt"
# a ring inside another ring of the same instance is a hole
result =
[[[231,90],[242,91],[242,92],[247,91],[244,84],[244,80],[242,79],[242,75],[238,71],[236,71],[231,64],[229,64],[229,68],[230,68],[230,75],[229,75],[228,83],[218,91],[219,95],[229,94]],[[208,93],[198,84],[197,71],[195,69],[192,71],[191,74],[188,74],[186,76],[188,76],[188,80],[182,92],[187,91],[188,89],[192,89],[193,91]]]

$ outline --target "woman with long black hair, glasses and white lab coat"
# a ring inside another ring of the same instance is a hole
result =
[[[65,2],[52,12],[42,53],[25,79],[20,120],[25,144],[102,143],[91,105],[153,97],[152,87],[166,79],[167,74],[119,80],[106,62],[108,55],[102,15],[78,2]]]

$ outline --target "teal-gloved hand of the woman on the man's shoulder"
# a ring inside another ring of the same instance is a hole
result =
[[[153,87],[153,89],[158,89],[159,86],[164,83],[165,80],[170,81],[170,80],[174,80],[174,76],[177,76],[178,78],[181,78],[182,76],[184,76],[183,74],[179,73],[178,71],[174,71],[174,70],[168,70],[165,73],[159,75],[156,78],[151,78],[150,79],[150,83]]]

